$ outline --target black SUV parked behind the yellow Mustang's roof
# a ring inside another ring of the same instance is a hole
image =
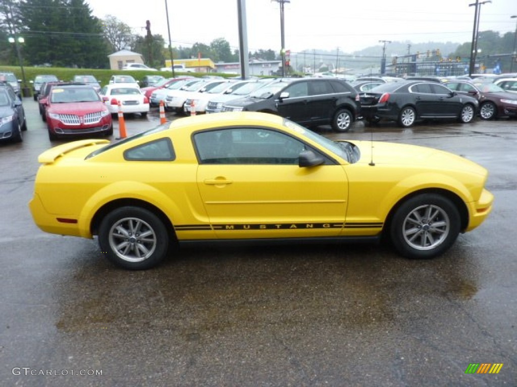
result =
[[[261,111],[308,127],[330,124],[347,132],[360,119],[357,91],[342,79],[282,78],[245,98],[227,102],[222,111]]]

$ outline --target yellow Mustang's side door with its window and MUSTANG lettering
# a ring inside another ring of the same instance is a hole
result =
[[[346,215],[344,169],[298,166],[302,141],[262,127],[193,137],[197,186],[219,238],[339,235]]]

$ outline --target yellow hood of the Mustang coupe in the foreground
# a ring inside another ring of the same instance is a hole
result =
[[[486,175],[486,169],[471,160],[438,149],[377,141],[355,142],[361,150],[360,163],[401,166],[422,170],[457,170],[465,173]]]

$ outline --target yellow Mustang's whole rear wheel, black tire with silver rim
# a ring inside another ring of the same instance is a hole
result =
[[[155,214],[144,208],[126,206],[114,209],[102,219],[99,245],[115,265],[144,270],[163,261],[169,249],[169,235]]]

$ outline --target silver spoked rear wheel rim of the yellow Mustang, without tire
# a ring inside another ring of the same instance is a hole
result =
[[[112,251],[127,262],[142,262],[157,246],[157,236],[149,223],[138,218],[123,218],[114,223],[109,233]]]

